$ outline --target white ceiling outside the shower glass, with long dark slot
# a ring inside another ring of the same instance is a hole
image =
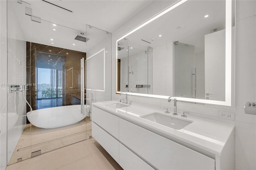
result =
[[[152,3],[152,0],[47,0],[71,10],[68,12],[42,0],[24,0],[31,4],[33,15],[73,28],[84,30],[86,24],[108,32],[118,27]]]

